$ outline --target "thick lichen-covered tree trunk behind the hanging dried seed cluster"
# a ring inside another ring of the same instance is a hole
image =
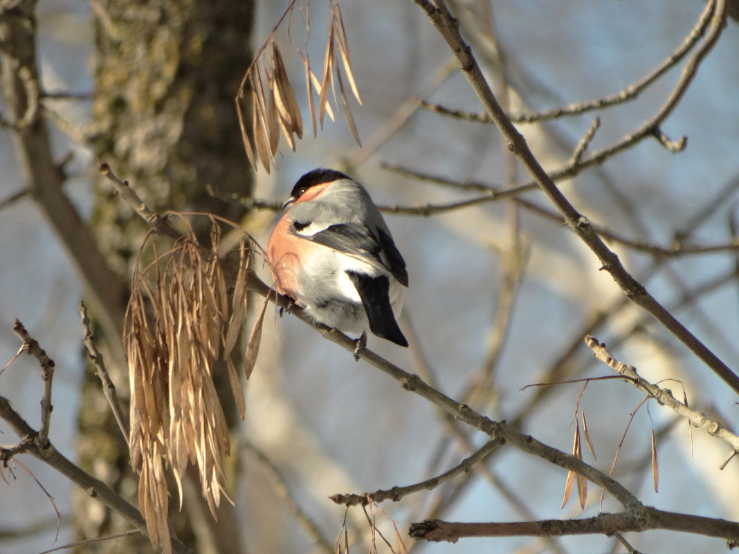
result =
[[[92,143],[98,158],[128,179],[157,211],[207,211],[238,220],[242,208],[212,198],[206,187],[222,195],[251,194],[252,173],[242,148],[234,95],[251,61],[253,0],[98,0],[92,7],[96,27]],[[132,256],[148,229],[103,181],[92,222],[109,263],[129,278]],[[125,396],[125,370],[117,368],[113,378]],[[231,424],[238,419],[233,410],[227,417]],[[137,481],[126,444],[92,372],[82,391],[79,425],[81,465],[135,501]],[[99,507],[91,511],[89,504],[75,510],[81,537],[124,530],[122,521]],[[210,538],[197,543],[190,516],[201,511],[191,502],[182,514],[175,508],[177,536],[200,554],[241,552],[231,505],[222,502],[218,524],[205,508],[207,518],[200,519],[197,535]],[[204,530],[203,523],[210,528]],[[86,549],[80,551],[148,552],[151,545],[130,537]]]

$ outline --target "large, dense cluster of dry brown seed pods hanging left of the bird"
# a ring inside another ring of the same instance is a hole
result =
[[[226,267],[218,255],[219,234],[214,222],[208,250],[190,230],[187,239],[161,255],[150,235],[137,258],[126,310],[123,346],[131,385],[131,461],[140,472],[139,505],[149,536],[165,553],[171,548],[167,469],[174,474],[180,505],[188,464],[198,469],[214,516],[224,493],[221,456],[229,454],[231,445],[214,386],[219,360],[218,367],[228,372],[239,413],[245,416],[232,354],[245,327],[253,250],[251,239],[242,236],[237,264]],[[153,261],[142,269],[145,257]],[[262,308],[244,358],[247,378],[264,312]]]

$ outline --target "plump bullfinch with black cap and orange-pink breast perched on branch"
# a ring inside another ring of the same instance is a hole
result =
[[[362,185],[333,169],[298,179],[270,236],[276,290],[307,315],[350,335],[367,329],[408,346],[396,318],[408,272],[385,220]]]

